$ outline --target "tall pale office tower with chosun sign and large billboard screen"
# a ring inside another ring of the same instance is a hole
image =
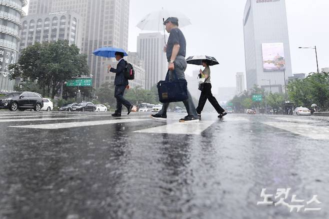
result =
[[[285,0],[247,0],[243,32],[247,90],[271,83],[272,92],[282,92],[292,76]]]

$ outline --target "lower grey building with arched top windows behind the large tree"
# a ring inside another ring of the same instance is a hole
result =
[[[66,39],[81,48],[80,15],[73,11],[57,11],[27,15],[21,19],[19,52],[35,42]]]

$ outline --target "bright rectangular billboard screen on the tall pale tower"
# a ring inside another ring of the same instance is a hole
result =
[[[261,43],[264,71],[283,71],[285,69],[283,42]]]

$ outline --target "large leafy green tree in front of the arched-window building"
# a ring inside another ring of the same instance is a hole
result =
[[[64,81],[89,74],[86,55],[67,40],[35,43],[26,47],[17,63],[9,66],[10,79],[36,80],[42,95],[54,97]]]

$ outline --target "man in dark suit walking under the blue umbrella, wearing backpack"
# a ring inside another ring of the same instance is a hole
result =
[[[123,75],[125,69],[125,60],[123,59],[123,56],[124,56],[123,52],[118,52],[118,51],[115,52],[115,59],[118,61],[116,65],[116,69],[112,68],[110,64],[108,65],[109,71],[115,73],[114,97],[116,98],[116,109],[112,114],[113,117],[121,116],[122,105],[127,107],[128,114],[131,112],[132,109],[132,104],[123,97],[125,87],[128,85],[128,80]]]

